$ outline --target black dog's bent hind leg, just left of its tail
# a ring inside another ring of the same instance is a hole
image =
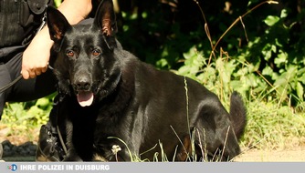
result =
[[[195,145],[209,160],[228,161],[240,153],[233,123],[216,96],[209,97],[208,103],[195,123]]]

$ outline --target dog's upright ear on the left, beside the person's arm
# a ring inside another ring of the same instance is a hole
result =
[[[63,38],[70,26],[66,17],[58,9],[47,6],[47,27],[49,35],[55,43]]]

